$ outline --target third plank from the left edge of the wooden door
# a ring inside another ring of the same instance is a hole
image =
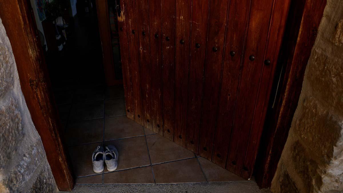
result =
[[[139,57],[141,92],[143,107],[143,126],[152,129],[152,94],[151,94],[151,64],[150,64],[150,31],[149,31],[149,4],[146,0],[137,1],[137,36],[139,37]]]

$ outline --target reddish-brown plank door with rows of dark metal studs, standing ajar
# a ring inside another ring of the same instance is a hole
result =
[[[250,178],[290,0],[120,0],[127,115]]]

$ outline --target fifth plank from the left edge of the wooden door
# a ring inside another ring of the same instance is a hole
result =
[[[174,140],[175,0],[162,0],[162,33],[163,136]]]

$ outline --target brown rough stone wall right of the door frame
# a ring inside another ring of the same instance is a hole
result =
[[[343,192],[343,2],[327,0],[273,192]]]

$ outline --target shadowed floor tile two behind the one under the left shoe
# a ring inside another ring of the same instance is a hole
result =
[[[104,101],[92,101],[73,104],[71,121],[89,120],[104,117]]]

